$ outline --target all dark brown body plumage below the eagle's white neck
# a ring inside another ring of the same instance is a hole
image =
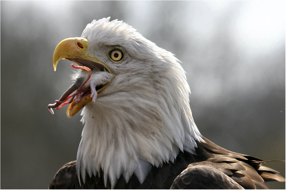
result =
[[[140,184],[133,175],[126,183],[121,176],[115,189],[268,189],[264,181],[285,181],[277,171],[262,166],[263,160],[217,146],[206,138],[197,142],[196,155],[180,152],[173,163],[152,167]],[[100,176],[87,177],[80,186],[76,161],[65,164],[55,174],[49,189],[110,189]]]

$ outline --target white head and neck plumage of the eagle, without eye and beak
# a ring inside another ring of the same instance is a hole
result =
[[[115,77],[95,103],[82,111],[78,177],[104,171],[112,187],[135,173],[142,183],[152,165],[173,162],[179,151],[194,153],[203,141],[189,106],[190,88],[180,61],[134,28],[110,18],[94,20],[82,33],[87,53],[103,61]],[[122,48],[112,62],[108,51]],[[195,154],[195,153],[194,153]]]

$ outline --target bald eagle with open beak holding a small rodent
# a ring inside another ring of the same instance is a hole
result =
[[[128,24],[103,18],[53,54],[79,66],[74,84],[48,108],[82,108],[76,161],[55,174],[49,189],[267,189],[285,181],[263,160],[204,138],[189,105],[180,61]],[[74,92],[74,93],[73,93]]]

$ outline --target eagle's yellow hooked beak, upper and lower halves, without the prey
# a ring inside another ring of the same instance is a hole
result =
[[[54,54],[53,54],[53,68],[56,70],[57,63],[60,59],[68,59],[75,63],[77,63],[80,66],[83,60],[87,60],[90,63],[94,63],[95,65],[100,64],[100,66],[104,67],[109,73],[111,73],[111,70],[98,58],[91,57],[86,54],[86,48],[88,47],[88,40],[85,38],[67,38],[57,45],[55,48]],[[102,91],[106,86],[110,84],[107,83],[100,89],[98,89],[96,92],[99,93]],[[98,96],[99,97],[99,96]],[[67,108],[67,117],[70,118],[74,116],[78,111],[80,111],[86,104],[90,103],[92,101],[92,98],[90,95],[84,97],[80,102],[75,103],[75,100],[70,103],[69,107]]]

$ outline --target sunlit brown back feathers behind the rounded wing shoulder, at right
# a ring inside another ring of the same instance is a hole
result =
[[[204,155],[206,161],[211,162],[207,163],[204,161],[204,164],[219,169],[243,188],[268,189],[264,181],[285,181],[285,178],[280,176],[277,171],[263,167],[261,165],[263,160],[231,152],[217,146],[204,137],[203,139],[205,142],[198,143],[196,151],[198,154]],[[191,165],[196,164],[200,164],[200,162],[192,163]]]

